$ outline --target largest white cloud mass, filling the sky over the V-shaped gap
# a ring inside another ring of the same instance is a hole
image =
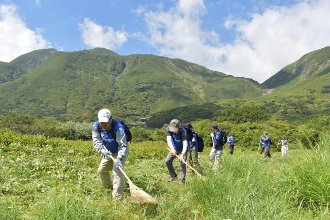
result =
[[[270,7],[249,20],[228,17],[224,26],[237,34],[230,44],[202,28],[203,0],[179,0],[168,11],[144,16],[147,41],[161,55],[262,82],[305,53],[330,45],[329,11],[330,2],[319,0]]]

